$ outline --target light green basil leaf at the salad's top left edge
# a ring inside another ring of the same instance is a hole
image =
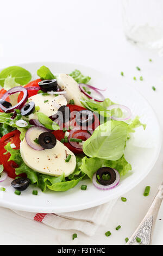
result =
[[[8,76],[15,78],[15,82],[22,86],[27,84],[32,78],[30,72],[21,68],[21,66],[9,66],[9,68],[3,69],[0,73],[0,84],[2,87],[4,86],[5,78]]]

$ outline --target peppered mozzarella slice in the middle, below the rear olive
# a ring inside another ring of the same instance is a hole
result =
[[[46,114],[48,117],[51,117],[51,115],[54,115],[57,113],[58,108],[60,108],[63,105],[67,105],[67,101],[64,96],[58,95],[42,95],[36,94],[32,97],[28,98],[29,102],[34,101],[35,106],[39,106],[39,111],[43,114]],[[37,114],[30,114],[28,119],[38,119]]]

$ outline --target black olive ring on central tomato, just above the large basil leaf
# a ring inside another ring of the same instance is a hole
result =
[[[76,122],[78,125],[87,126],[87,125],[93,124],[94,121],[95,121],[95,117],[90,110],[85,109],[77,112]]]

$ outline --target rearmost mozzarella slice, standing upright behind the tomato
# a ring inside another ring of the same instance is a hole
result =
[[[58,85],[66,91],[65,97],[67,102],[74,100],[75,105],[82,106],[80,99],[85,95],[80,92],[78,83],[69,75],[59,74],[57,76]]]

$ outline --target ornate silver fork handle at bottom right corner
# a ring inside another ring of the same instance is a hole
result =
[[[146,216],[143,218],[139,227],[135,230],[134,234],[130,237],[126,245],[151,245],[154,225],[156,217],[160,209],[160,205],[163,199],[163,182],[159,186],[158,192],[149,208]],[[141,242],[136,241],[136,237],[141,239]]]

